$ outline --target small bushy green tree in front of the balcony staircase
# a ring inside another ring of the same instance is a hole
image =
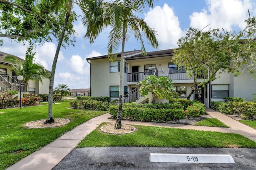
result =
[[[151,96],[151,103],[155,103],[155,99],[166,98],[167,100],[172,100],[172,98],[177,98],[178,95],[174,92],[175,87],[172,84],[171,78],[166,78],[165,76],[154,76],[150,75],[144,78],[144,80],[138,82],[136,85],[140,86],[140,94],[146,96],[149,93]]]

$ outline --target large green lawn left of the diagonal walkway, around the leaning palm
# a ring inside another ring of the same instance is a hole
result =
[[[106,111],[67,109],[69,102],[53,105],[54,118],[67,118],[70,123],[63,127],[27,129],[24,124],[46,119],[48,105],[22,109],[0,109],[0,169],[18,162],[32,152],[41,149],[74,127]]]

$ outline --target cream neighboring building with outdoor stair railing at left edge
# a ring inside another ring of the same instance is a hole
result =
[[[6,55],[10,54],[0,51],[0,93],[7,90],[16,90],[19,92],[19,80],[17,80],[15,72],[12,71],[12,66],[10,62],[3,60],[3,57],[5,57]],[[22,83],[22,93],[48,94],[50,80],[43,79],[42,81],[43,84],[34,80],[29,80],[28,84]]]

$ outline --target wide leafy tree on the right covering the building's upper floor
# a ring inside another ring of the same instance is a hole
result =
[[[246,29],[239,33],[190,27],[186,36],[178,40],[178,48],[174,50],[172,59],[178,67],[184,66],[188,76],[194,78],[188,100],[198,87],[218,78],[218,72],[230,72],[238,76],[241,70],[249,67],[253,73],[256,64],[255,18],[249,18],[246,22]],[[198,79],[203,81],[198,83]]]

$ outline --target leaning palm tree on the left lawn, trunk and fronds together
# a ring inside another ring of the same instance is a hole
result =
[[[51,77],[50,77],[49,98],[48,98],[48,106],[49,106],[48,107],[48,117],[47,117],[46,121],[44,122],[44,124],[54,122],[54,119],[52,117],[54,74],[55,74],[55,70],[56,70],[58,55],[60,53],[60,47],[62,45],[66,27],[68,25],[68,19],[70,18],[70,15],[71,15],[72,5],[73,5],[73,3],[76,3],[81,8],[82,12],[84,12],[84,13],[90,11],[90,13],[92,13],[92,14],[97,14],[97,12],[93,12],[93,11],[96,11],[98,9],[97,7],[100,5],[101,0],[77,0],[76,2],[74,2],[73,0],[47,0],[47,2],[48,2],[48,5],[50,6],[50,10],[53,11],[56,15],[58,15],[58,12],[60,10],[65,8],[66,9],[66,18],[63,23],[62,33],[59,37],[58,46],[57,46],[54,60],[52,63],[52,73],[51,73]],[[88,16],[88,15],[85,15],[85,16]],[[89,15],[89,17],[91,17],[91,15]]]

